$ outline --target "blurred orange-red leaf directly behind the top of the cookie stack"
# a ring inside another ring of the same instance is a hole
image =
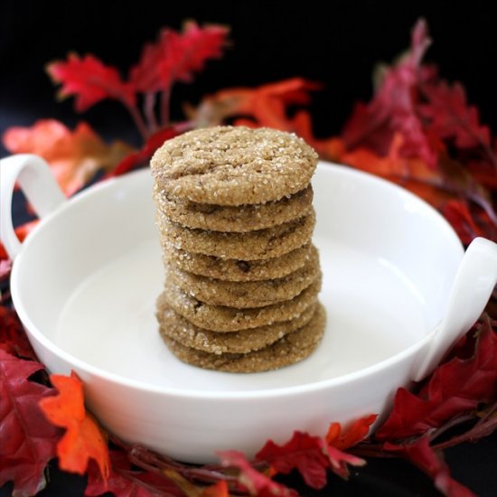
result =
[[[189,117],[200,126],[215,126],[225,119],[238,117],[237,124],[274,127],[295,131],[295,123],[287,116],[288,106],[305,105],[309,92],[321,85],[302,78],[269,83],[258,88],[223,89],[202,100],[196,109],[187,109]]]

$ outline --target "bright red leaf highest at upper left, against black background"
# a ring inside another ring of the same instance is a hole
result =
[[[131,85],[146,93],[170,89],[174,81],[191,81],[205,61],[221,56],[227,36],[223,26],[200,27],[194,22],[185,23],[183,33],[163,29],[157,42],[145,45],[131,69]]]

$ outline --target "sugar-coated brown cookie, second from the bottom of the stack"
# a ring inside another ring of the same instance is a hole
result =
[[[241,330],[233,333],[217,333],[203,330],[184,319],[171,307],[164,305],[160,314],[159,333],[165,338],[172,338],[185,347],[198,351],[221,353],[247,353],[258,351],[271,343],[276,342],[287,333],[295,332],[309,323],[314,315],[315,305],[309,306],[299,316],[290,321],[268,324],[250,330]]]

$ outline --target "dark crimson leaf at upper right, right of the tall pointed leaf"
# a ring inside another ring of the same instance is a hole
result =
[[[445,81],[422,87],[427,104],[419,112],[427,119],[427,130],[442,139],[454,140],[459,148],[490,146],[490,129],[480,124],[478,109],[469,106],[464,88]]]

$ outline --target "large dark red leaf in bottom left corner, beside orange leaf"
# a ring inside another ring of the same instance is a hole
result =
[[[55,457],[61,429],[38,406],[54,389],[28,380],[43,365],[0,349],[0,487],[14,482],[14,495],[34,495],[45,486],[44,470]]]

